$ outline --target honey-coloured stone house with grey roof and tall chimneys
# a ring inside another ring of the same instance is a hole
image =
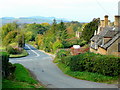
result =
[[[90,51],[120,57],[120,16],[115,16],[114,25],[107,15],[100,21],[98,30],[91,38]]]

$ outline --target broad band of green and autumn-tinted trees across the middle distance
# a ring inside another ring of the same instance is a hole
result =
[[[74,44],[85,45],[90,41],[98,25],[99,19],[87,24],[77,21],[57,23],[54,19],[52,25],[48,23],[20,25],[14,22],[3,25],[0,30],[4,46],[16,43],[18,47],[24,47],[25,42],[34,42],[38,49],[54,53],[59,48],[69,48]],[[76,31],[82,33],[80,38],[75,36]]]

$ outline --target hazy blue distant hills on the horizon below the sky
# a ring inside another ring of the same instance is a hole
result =
[[[12,22],[17,22],[17,23],[49,23],[52,24],[53,19],[56,19],[57,23],[59,23],[61,20],[63,22],[69,22],[65,18],[55,18],[55,17],[42,17],[42,16],[32,16],[32,17],[19,17],[19,18],[14,18],[14,17],[2,17],[0,18],[0,21],[2,20],[2,24],[6,23],[12,23]]]

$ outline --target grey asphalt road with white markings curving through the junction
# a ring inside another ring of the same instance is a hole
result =
[[[63,74],[52,62],[52,57],[30,45],[25,49],[28,56],[10,58],[11,63],[20,63],[28,68],[47,88],[117,88],[115,85],[79,80]]]

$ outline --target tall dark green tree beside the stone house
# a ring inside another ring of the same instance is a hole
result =
[[[86,24],[82,31],[82,38],[89,42],[91,37],[94,35],[95,30],[97,30],[100,20],[93,19],[90,23]]]

